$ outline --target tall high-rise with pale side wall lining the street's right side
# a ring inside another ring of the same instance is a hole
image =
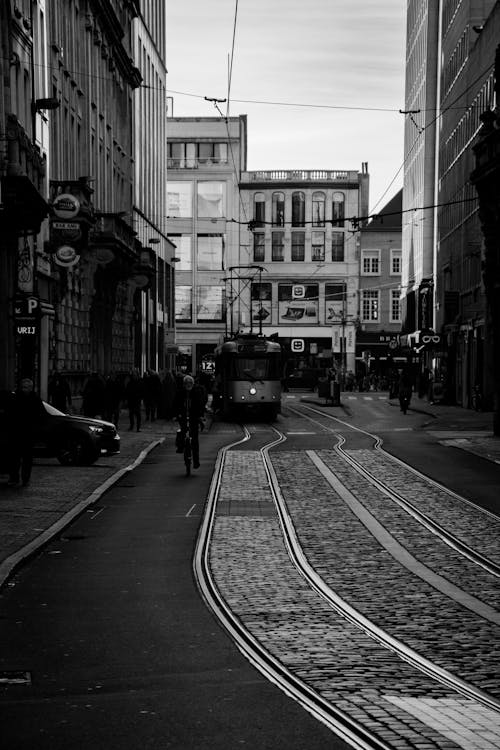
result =
[[[470,181],[480,115],[494,106],[494,0],[410,0],[407,17],[403,332],[445,397],[491,401],[483,242]],[[432,332],[431,346],[422,346]],[[418,373],[417,373],[418,374]]]

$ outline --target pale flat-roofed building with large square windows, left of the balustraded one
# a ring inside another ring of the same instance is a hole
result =
[[[168,237],[175,249],[179,362],[200,368],[228,330],[228,281],[242,264],[239,181],[246,116],[168,118]]]

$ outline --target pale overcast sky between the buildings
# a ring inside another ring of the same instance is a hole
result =
[[[228,96],[235,10],[236,0],[168,0],[174,116],[218,116],[204,97]],[[229,114],[248,116],[248,169],[366,161],[380,210],[402,186],[400,171],[389,188],[403,162],[405,41],[403,0],[239,0]]]

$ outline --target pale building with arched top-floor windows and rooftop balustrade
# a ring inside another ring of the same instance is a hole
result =
[[[332,358],[355,369],[360,240],[353,226],[367,216],[368,189],[367,164],[360,172],[242,174],[239,265],[262,271],[240,290],[239,324],[277,335],[287,369]]]

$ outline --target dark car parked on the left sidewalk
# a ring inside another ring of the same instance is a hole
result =
[[[120,436],[111,422],[63,414],[43,402],[47,419],[35,441],[35,456],[55,456],[64,466],[90,466],[100,456],[120,452]],[[1,406],[1,405],[0,405]],[[0,453],[5,459],[9,436],[0,408]]]

